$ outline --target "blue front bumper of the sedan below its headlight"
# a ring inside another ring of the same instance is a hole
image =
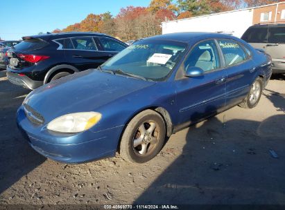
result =
[[[46,135],[42,128],[34,126],[27,118],[22,107],[17,112],[17,126],[24,138],[35,151],[46,158],[58,162],[78,164],[101,158],[112,157],[116,153],[119,137],[123,126],[92,133],[85,131],[66,138],[56,135]],[[92,140],[84,140],[92,135]],[[58,143],[54,143],[55,139]],[[80,141],[78,142],[78,138]],[[76,142],[76,143],[74,143]]]

